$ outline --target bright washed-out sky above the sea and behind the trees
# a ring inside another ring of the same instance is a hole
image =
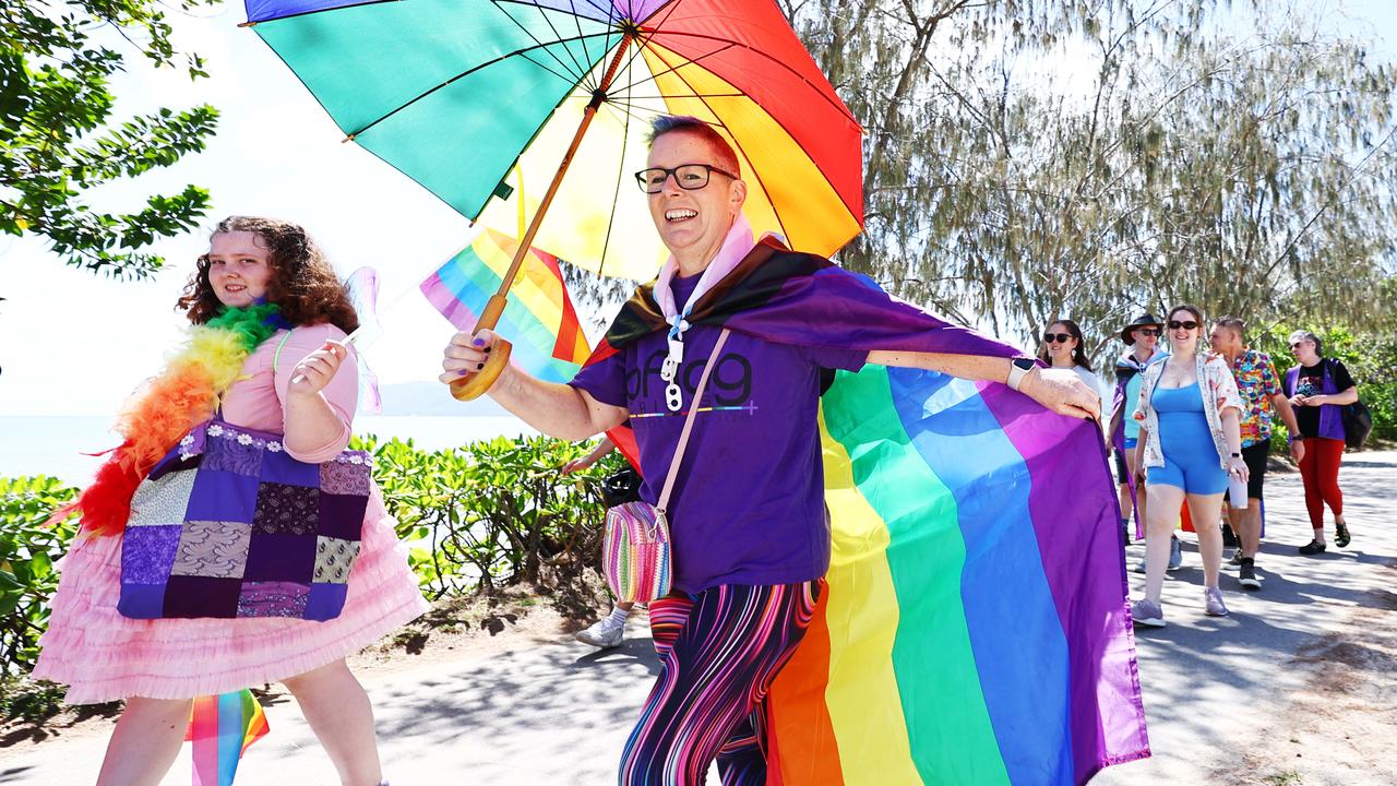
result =
[[[1299,3],[1397,60],[1397,1]],[[384,383],[430,379],[451,329],[414,287],[471,238],[469,224],[353,144],[250,31],[240,4],[175,20],[179,43],[203,53],[212,78],[190,83],[129,59],[117,116],[208,102],[222,112],[207,151],[92,194],[134,210],[148,193],[198,183],[214,194],[207,224],[265,214],[306,225],[348,274],[373,266],[386,336],[367,357]],[[0,238],[0,415],[110,414],[161,366],[183,319],[172,310],[207,231],[158,243],[170,264],[154,280],[117,283],[64,267],[34,239]]]

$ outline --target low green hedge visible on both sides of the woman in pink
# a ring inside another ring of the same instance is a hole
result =
[[[376,456],[384,505],[433,599],[518,582],[566,589],[601,559],[601,478],[623,462],[616,453],[563,476],[587,446],[535,436],[425,452],[372,435],[355,446]],[[27,673],[38,657],[59,585],[53,564],[77,530],[74,517],[45,522],[77,494],[52,477],[0,478],[0,676]],[[10,692],[0,689],[0,703]]]

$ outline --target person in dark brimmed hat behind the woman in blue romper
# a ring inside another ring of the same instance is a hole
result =
[[[1116,361],[1116,390],[1111,404],[1111,445],[1116,453],[1116,483],[1119,483],[1120,496],[1120,529],[1125,530],[1125,543],[1130,543],[1129,510],[1134,510],[1136,520],[1144,527],[1146,522],[1146,488],[1134,477],[1130,467],[1134,466],[1136,445],[1140,439],[1140,424],[1134,420],[1136,406],[1140,401],[1140,375],[1144,369],[1169,357],[1168,350],[1160,347],[1160,333],[1164,323],[1153,313],[1141,313],[1130,324],[1120,329],[1120,340],[1126,344],[1125,354]],[[1183,550],[1179,548],[1179,538],[1169,536],[1169,571],[1178,571],[1183,565]],[[1136,572],[1144,572],[1144,562],[1136,565]]]

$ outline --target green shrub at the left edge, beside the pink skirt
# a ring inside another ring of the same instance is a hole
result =
[[[53,569],[77,524],[46,526],[78,490],[52,477],[0,478],[0,659],[4,674],[28,671],[39,656],[49,600],[59,589]]]

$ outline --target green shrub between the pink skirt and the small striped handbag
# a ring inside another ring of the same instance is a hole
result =
[[[534,436],[426,452],[373,435],[355,445],[374,455],[384,506],[432,597],[563,586],[601,559],[601,478],[622,462],[615,453],[563,476],[587,446]]]

